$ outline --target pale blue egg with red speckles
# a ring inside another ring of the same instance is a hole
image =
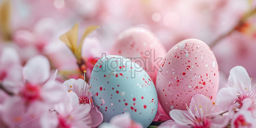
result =
[[[153,121],[158,106],[156,89],[137,63],[117,55],[102,57],[93,67],[90,85],[103,121],[125,112],[143,127]]]

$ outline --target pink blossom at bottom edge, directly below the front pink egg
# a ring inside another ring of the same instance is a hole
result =
[[[174,120],[167,120],[159,128],[222,128],[228,125],[229,116],[218,115],[217,110],[211,101],[202,94],[192,97],[187,110],[171,110],[170,117]]]

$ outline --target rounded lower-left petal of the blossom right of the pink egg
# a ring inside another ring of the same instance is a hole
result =
[[[216,104],[222,110],[228,110],[236,100],[239,100],[234,88],[222,88],[217,94]]]

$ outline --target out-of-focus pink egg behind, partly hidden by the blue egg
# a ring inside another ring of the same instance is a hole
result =
[[[166,50],[151,31],[134,27],[119,34],[110,53],[133,57],[131,60],[141,65],[155,83],[158,65],[161,64]]]

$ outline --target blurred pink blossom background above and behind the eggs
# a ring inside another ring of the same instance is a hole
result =
[[[255,0],[12,0],[11,36],[3,40],[1,29],[0,49],[14,47],[23,64],[32,56],[45,55],[52,68],[63,73],[78,68],[72,52],[59,40],[76,22],[79,36],[88,25],[100,26],[84,43],[88,54],[82,57],[88,62],[102,52],[108,54],[122,31],[143,27],[160,39],[166,51],[184,39],[204,41],[216,56],[220,87],[225,87],[236,65],[256,79],[255,8]]]

